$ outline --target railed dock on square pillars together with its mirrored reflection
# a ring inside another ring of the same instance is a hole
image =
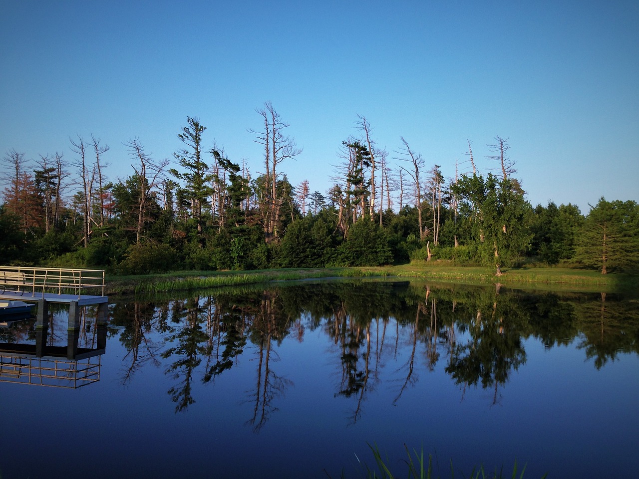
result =
[[[82,294],[100,288],[100,296]],[[104,271],[0,266],[0,298],[37,303],[35,344],[0,343],[0,382],[79,388],[100,379],[107,342]],[[67,345],[49,346],[49,303],[68,305]],[[79,347],[81,308],[97,306],[96,347]]]

